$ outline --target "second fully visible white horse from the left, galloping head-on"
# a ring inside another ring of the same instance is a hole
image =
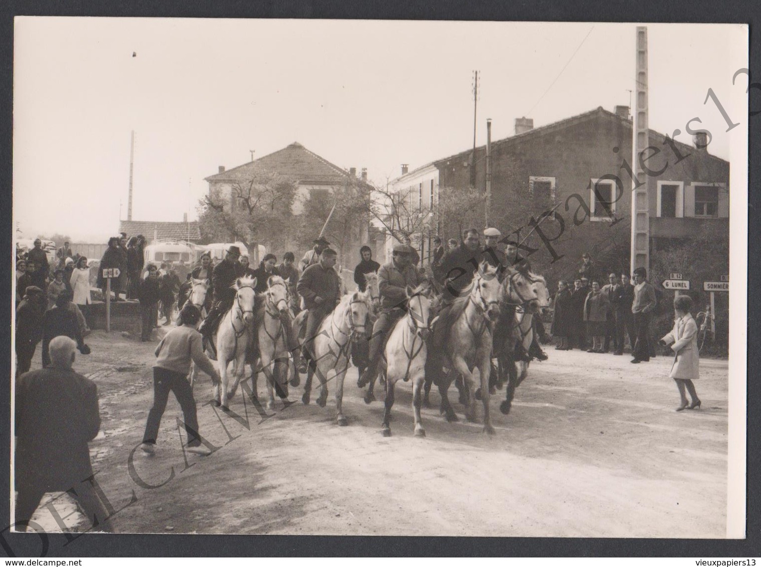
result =
[[[281,316],[288,311],[291,295],[288,285],[280,276],[270,276],[267,279],[267,291],[257,297],[260,298],[260,307],[256,310],[259,364],[251,365],[252,391],[256,396],[256,378],[262,371],[267,378],[267,409],[272,409],[275,405],[273,388],[280,398],[288,398],[290,359]]]

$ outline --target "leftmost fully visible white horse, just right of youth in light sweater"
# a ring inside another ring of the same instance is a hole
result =
[[[253,310],[256,303],[256,278],[238,278],[233,306],[225,313],[217,327],[214,341],[217,346],[217,365],[221,383],[214,385],[215,403],[225,411],[228,397],[233,397],[246,372],[246,352],[253,340]],[[235,381],[228,388],[228,364],[234,363]]]

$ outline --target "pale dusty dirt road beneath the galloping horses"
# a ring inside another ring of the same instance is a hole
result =
[[[726,361],[701,361],[702,409],[677,413],[670,358],[631,365],[629,356],[550,349],[549,361],[531,365],[509,416],[492,398],[493,437],[481,425],[445,422],[431,393],[428,437],[414,438],[410,387],[400,383],[393,437],[384,438],[383,402],[365,405],[355,370],[344,395],[348,427],[333,420],[332,390],[326,408],[302,405],[303,378],[291,388],[295,403],[276,402],[264,421],[250,401],[244,409],[240,390],[231,402],[239,420],[203,405],[211,387],[202,381],[201,433],[218,451],[183,456],[180,408],[170,398],[157,454],[138,449],[130,459],[151,407],[155,345],[102,332],[88,343],[93,353],[75,366],[98,385],[103,425],[91,454],[120,532],[725,535]],[[133,490],[136,502],[123,508]],[[56,500],[62,516],[67,506]],[[56,528],[46,508],[36,519]]]

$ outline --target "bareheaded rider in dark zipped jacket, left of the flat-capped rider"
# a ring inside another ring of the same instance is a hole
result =
[[[336,270],[333,269],[333,266],[336,265],[336,250],[325,247],[320,250],[319,257],[319,262],[304,270],[296,285],[298,295],[301,295],[308,311],[307,323],[304,326],[306,340],[304,341],[303,355],[312,368],[317,368],[317,361],[313,352],[315,334],[325,316],[336,308],[336,304],[341,298],[341,282]]]

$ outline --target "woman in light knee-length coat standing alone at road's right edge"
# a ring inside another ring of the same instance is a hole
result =
[[[682,400],[677,412],[684,409],[700,407],[698,393],[695,391],[693,380],[698,379],[698,325],[689,314],[693,307],[693,300],[688,295],[680,295],[673,300],[674,323],[673,330],[661,339],[661,345],[671,346],[676,358],[671,366],[670,378],[677,382],[679,396]],[[684,390],[689,392],[693,403],[687,403]]]

